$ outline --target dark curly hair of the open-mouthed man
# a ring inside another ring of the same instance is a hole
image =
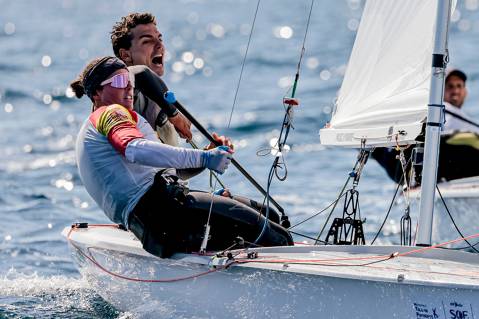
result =
[[[153,23],[156,25],[156,18],[149,12],[130,13],[121,18],[111,30],[111,45],[113,52],[119,58],[120,49],[129,49],[131,47],[132,34],[131,29],[140,24]]]

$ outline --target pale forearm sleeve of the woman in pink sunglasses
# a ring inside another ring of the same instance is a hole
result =
[[[203,167],[203,153],[137,138],[128,143],[125,158],[131,163],[153,167],[197,168]]]

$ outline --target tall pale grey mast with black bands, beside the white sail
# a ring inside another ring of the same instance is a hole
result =
[[[432,54],[432,74],[426,123],[423,173],[421,181],[421,203],[419,213],[418,246],[430,246],[434,196],[436,193],[439,142],[444,121],[444,74],[446,68],[447,32],[451,12],[450,0],[438,0],[436,32]]]

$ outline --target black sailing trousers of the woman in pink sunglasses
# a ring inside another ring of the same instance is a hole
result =
[[[204,237],[212,196],[202,191],[187,191],[176,177],[158,173],[151,188],[143,195],[129,218],[129,228],[149,253],[166,258],[174,252],[197,252]],[[251,204],[251,205],[248,205]],[[257,209],[262,206],[241,198],[214,196],[207,249],[218,251],[234,244],[238,236],[255,241],[265,224]],[[279,224],[279,216],[270,212],[268,229],[258,244],[291,245],[288,231]]]

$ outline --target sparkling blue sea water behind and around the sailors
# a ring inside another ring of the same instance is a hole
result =
[[[88,288],[61,230],[75,221],[107,222],[82,187],[74,141],[90,104],[68,83],[92,58],[111,54],[109,31],[132,11],[150,11],[168,50],[165,81],[212,131],[233,138],[236,159],[265,184],[278,135],[282,97],[300,56],[310,1],[263,0],[231,125],[228,126],[256,1],[0,1],[0,318],[129,318]],[[337,196],[353,150],[327,149],[318,130],[329,120],[354,41],[363,1],[316,0],[306,42],[286,163],[288,178],[272,194],[293,224]],[[453,16],[451,65],[469,76],[466,111],[479,118],[479,1],[460,0]],[[205,143],[196,133],[196,141]],[[259,194],[237,171],[223,177],[234,193]],[[206,174],[192,187],[208,188]],[[362,177],[366,233],[378,229],[395,185],[374,162]],[[398,214],[400,212],[397,212]],[[397,217],[397,216],[396,216]],[[397,218],[382,242],[397,242]],[[396,218],[396,219],[395,219]],[[315,236],[325,216],[297,231]],[[301,238],[298,238],[300,240]]]

